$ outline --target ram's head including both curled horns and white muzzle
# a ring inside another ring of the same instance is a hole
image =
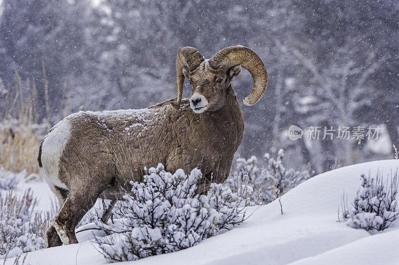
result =
[[[253,105],[263,96],[267,86],[267,72],[259,56],[244,46],[224,48],[205,60],[193,47],[179,49],[176,58],[177,104],[180,106],[185,78],[190,80],[190,106],[195,113],[216,111],[223,107],[230,82],[244,67],[252,75],[252,92],[242,100]]]

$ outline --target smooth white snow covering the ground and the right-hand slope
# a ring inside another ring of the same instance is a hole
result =
[[[239,227],[206,239],[199,245],[134,264],[399,264],[399,225],[374,235],[338,222],[345,191],[349,202],[360,187],[361,173],[384,176],[399,168],[399,160],[374,161],[342,167],[315,176],[268,205],[251,207]],[[44,182],[30,185],[49,207]],[[48,209],[48,208],[47,208]],[[30,264],[107,264],[89,240],[91,232],[77,235],[79,244],[28,254]],[[9,259],[5,264],[13,264]]]

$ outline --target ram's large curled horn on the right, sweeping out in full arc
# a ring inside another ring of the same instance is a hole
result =
[[[267,87],[267,72],[259,56],[247,47],[232,46],[216,52],[209,59],[209,66],[213,69],[223,67],[228,70],[238,64],[252,75],[252,91],[242,100],[245,105],[251,106],[260,100]]]

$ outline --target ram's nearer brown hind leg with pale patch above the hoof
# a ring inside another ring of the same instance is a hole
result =
[[[96,187],[93,183],[69,190],[68,197],[53,222],[62,243],[65,245],[78,243],[75,227],[93,207],[102,191],[102,187]]]

